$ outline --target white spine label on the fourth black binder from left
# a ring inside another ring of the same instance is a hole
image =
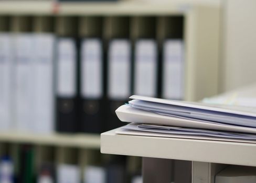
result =
[[[156,42],[150,39],[138,40],[135,45],[136,95],[156,96],[157,50]]]

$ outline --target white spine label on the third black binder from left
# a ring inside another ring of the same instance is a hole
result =
[[[130,95],[131,44],[129,40],[112,40],[109,45],[108,96],[124,99]]]

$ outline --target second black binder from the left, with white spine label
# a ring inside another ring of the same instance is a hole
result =
[[[80,130],[103,131],[103,49],[99,38],[81,40],[80,55]]]

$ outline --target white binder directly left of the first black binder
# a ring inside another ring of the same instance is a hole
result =
[[[36,133],[51,133],[54,131],[55,37],[50,33],[36,33],[34,37],[33,130]]]

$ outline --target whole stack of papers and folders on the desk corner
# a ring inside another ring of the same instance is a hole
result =
[[[119,134],[256,143],[254,107],[210,105],[133,95],[116,115]]]

